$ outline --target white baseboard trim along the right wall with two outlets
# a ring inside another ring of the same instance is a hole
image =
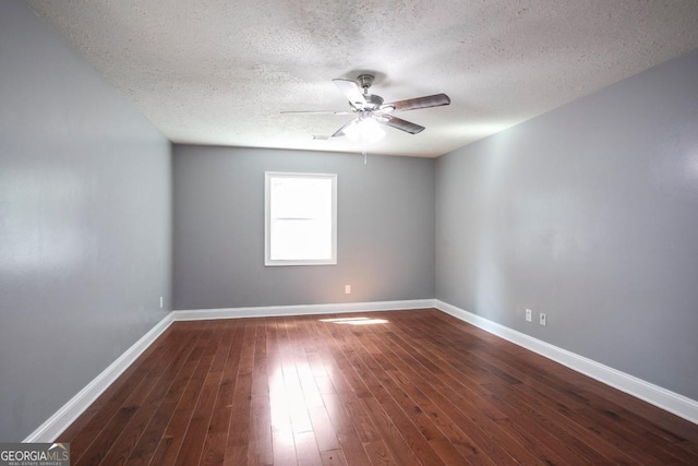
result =
[[[533,338],[532,336],[526,335],[489,319],[484,319],[447,302],[438,299],[434,301],[434,307],[447,314],[468,322],[516,345],[522,346],[524,348],[530,349],[533,353],[538,353],[541,356],[675,414],[686,420],[698,423],[698,402],[695,399],[690,399],[634,375],[604,366],[592,359],[585,358],[583,356],[579,356],[538,338]]]

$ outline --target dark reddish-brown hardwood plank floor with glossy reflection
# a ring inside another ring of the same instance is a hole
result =
[[[176,322],[73,465],[698,465],[698,426],[437,310]]]

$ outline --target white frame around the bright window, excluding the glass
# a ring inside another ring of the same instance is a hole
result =
[[[332,258],[278,260],[272,259],[272,179],[273,178],[314,178],[332,180]],[[336,174],[296,174],[281,171],[264,172],[264,265],[335,265],[337,264],[337,175]]]

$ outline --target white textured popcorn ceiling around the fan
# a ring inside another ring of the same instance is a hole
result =
[[[171,141],[358,152],[332,79],[446,93],[369,153],[438,156],[698,48],[696,0],[27,0]]]

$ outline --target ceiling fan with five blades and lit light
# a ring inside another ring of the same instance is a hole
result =
[[[330,136],[313,136],[314,139],[330,139],[346,135],[364,122],[378,122],[410,134],[417,134],[424,130],[424,127],[412,123],[393,113],[419,108],[440,107],[450,104],[450,98],[446,94],[434,94],[425,97],[398,100],[389,104],[383,103],[383,97],[369,94],[369,88],[373,84],[373,74],[361,74],[357,81],[335,79],[333,83],[341,91],[349,100],[349,110],[309,110],[309,111],[281,111],[281,113],[304,113],[304,115],[356,115],[357,117]],[[374,123],[375,124],[375,123]]]

